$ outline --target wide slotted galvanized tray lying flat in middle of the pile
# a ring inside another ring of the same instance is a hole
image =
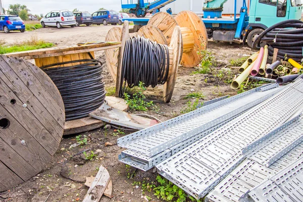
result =
[[[242,148],[283,124],[303,105],[303,80],[159,164],[159,173],[196,198],[204,197],[243,160]],[[274,110],[271,106],[280,105]]]

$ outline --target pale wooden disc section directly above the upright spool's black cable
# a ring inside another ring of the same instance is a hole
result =
[[[137,36],[143,36],[144,38],[148,38],[150,41],[167,45],[167,41],[162,31],[154,25],[144,25],[137,32]]]

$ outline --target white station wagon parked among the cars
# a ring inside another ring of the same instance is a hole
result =
[[[40,23],[43,28],[46,26],[57,27],[59,29],[62,26],[74,27],[76,25],[76,17],[69,10],[51,11],[40,20]]]

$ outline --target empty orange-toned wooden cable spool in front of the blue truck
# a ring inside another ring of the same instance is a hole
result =
[[[207,31],[203,21],[191,11],[182,11],[174,18],[168,13],[157,13],[148,21],[145,26],[155,26],[159,28],[167,43],[171,43],[173,30],[180,26],[182,35],[183,54],[181,65],[184,67],[195,67],[198,65],[202,56],[198,54],[207,47]],[[146,29],[145,26],[141,29]],[[138,32],[140,32],[140,30]],[[149,30],[152,30],[149,28]],[[153,32],[154,33],[154,32]],[[153,35],[151,33],[150,35]],[[148,36],[146,36],[149,38]]]

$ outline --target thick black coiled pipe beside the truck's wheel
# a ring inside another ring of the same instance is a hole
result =
[[[286,29],[287,28],[287,29]],[[303,22],[300,20],[285,20],[279,22],[262,32],[252,43],[252,48],[260,49],[260,43],[268,44],[268,53],[274,54],[278,48],[278,57],[291,58],[301,62],[303,58]]]

